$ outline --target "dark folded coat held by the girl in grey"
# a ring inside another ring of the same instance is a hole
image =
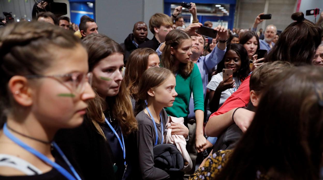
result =
[[[184,168],[184,159],[175,145],[159,144],[153,147],[155,167],[165,171],[180,171]]]

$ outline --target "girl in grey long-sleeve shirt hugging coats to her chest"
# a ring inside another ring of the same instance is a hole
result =
[[[139,167],[143,179],[167,179],[172,175],[154,166],[153,146],[165,143],[165,125],[168,119],[164,107],[172,107],[177,93],[174,74],[166,69],[153,67],[143,72],[138,86],[137,143],[140,149]],[[146,101],[145,101],[146,100]],[[172,134],[188,136],[188,128],[172,123]]]

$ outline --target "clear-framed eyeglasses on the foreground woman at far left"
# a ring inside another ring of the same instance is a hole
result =
[[[81,73],[81,72],[73,72],[70,74],[63,74],[63,75],[26,75],[25,76],[28,79],[36,79],[36,78],[53,78],[57,80],[58,82],[62,83],[64,86],[66,86],[69,90],[75,93],[83,93],[85,90],[85,83],[89,82],[90,85],[92,85],[92,77],[93,74],[91,72],[89,73]]]

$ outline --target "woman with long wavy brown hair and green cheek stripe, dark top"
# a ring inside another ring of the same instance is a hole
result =
[[[137,121],[132,112],[129,91],[122,77],[123,50],[103,34],[90,34],[82,41],[89,53],[89,71],[93,89],[98,93],[90,103],[88,118],[98,123],[98,131],[107,139],[117,166],[116,178],[134,176],[136,162],[134,131]],[[108,153],[108,152],[107,152]]]

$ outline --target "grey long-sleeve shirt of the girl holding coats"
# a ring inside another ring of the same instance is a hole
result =
[[[161,144],[161,133],[165,133],[166,119],[168,118],[165,109],[161,111],[163,122],[163,132],[161,132],[161,124],[156,123],[158,132],[158,143]],[[151,118],[144,112],[140,111],[136,119],[138,121],[137,142],[139,151],[139,166],[141,176],[144,180],[159,180],[169,178],[169,174],[157,167],[154,167],[153,146],[156,141],[156,131]],[[165,135],[164,135],[165,139]]]

